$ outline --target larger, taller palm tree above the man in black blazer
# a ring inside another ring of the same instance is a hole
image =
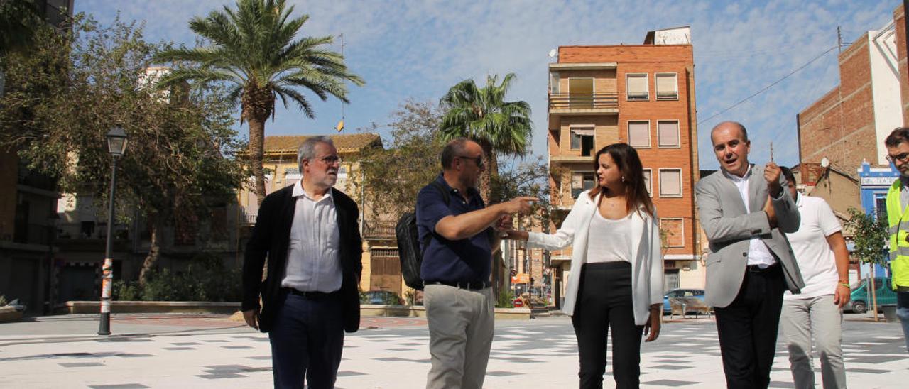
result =
[[[332,43],[331,35],[295,39],[309,15],[291,18],[293,11],[285,0],[237,0],[236,10],[225,6],[190,20],[189,28],[211,45],[169,49],[155,57],[159,62],[192,64],[162,77],[159,87],[189,81],[231,86],[230,96],[241,106],[240,123],[249,125],[249,158],[260,205],[265,199],[265,121],[275,113],[275,99],[280,97],[285,107],[294,102],[314,118],[301,89],[323,101],[333,95],[349,103],[345,81],[365,84],[347,69],[342,55],[322,48]]]

